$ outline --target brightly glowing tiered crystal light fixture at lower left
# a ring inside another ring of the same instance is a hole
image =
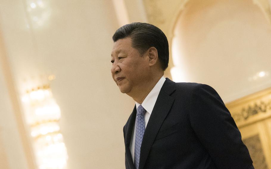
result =
[[[61,113],[49,85],[28,90],[22,102],[39,169],[65,169],[68,155],[59,126]]]

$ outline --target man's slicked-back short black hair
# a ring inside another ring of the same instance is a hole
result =
[[[136,48],[141,55],[148,48],[155,47],[161,68],[163,71],[166,70],[169,63],[169,43],[161,29],[152,24],[134,22],[117,29],[112,38],[116,42],[126,37],[132,39],[132,47]]]

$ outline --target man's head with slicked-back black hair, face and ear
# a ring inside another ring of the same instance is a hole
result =
[[[119,28],[113,40],[112,77],[122,93],[141,99],[168,66],[166,36],[151,24],[132,23]]]

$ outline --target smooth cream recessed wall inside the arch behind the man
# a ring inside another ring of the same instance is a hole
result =
[[[271,53],[267,47],[271,43],[271,26],[259,4],[253,3],[183,2],[185,8],[179,11],[169,37],[172,52],[177,49],[179,56],[183,54],[182,60],[177,61],[183,63],[179,65],[182,70],[177,69],[184,75],[180,81],[209,84],[226,102],[271,86],[270,76],[267,77],[271,69],[265,63]],[[173,44],[176,41],[178,47]],[[176,65],[176,59],[172,60]],[[263,75],[266,79],[260,78]]]

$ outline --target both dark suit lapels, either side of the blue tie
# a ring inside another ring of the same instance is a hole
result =
[[[140,151],[140,169],[144,168],[152,143],[154,142],[155,137],[174,102],[174,98],[170,96],[174,91],[175,82],[166,78],[166,81],[164,82],[160,90],[160,93],[152,110],[152,115],[149,118],[149,122],[144,132]],[[135,120],[136,106],[134,107],[133,112],[129,117],[129,120],[125,125],[125,151],[130,169],[135,169],[130,151],[130,142]]]

